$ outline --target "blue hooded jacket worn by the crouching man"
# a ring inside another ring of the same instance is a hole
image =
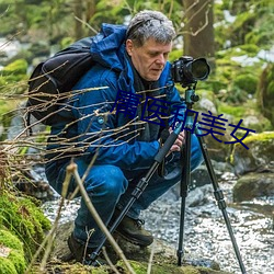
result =
[[[114,164],[125,170],[148,168],[153,162],[159,150],[159,136],[151,141],[139,141],[133,119],[125,113],[110,113],[118,91],[136,93],[133,68],[125,58],[125,26],[103,24],[94,36],[91,53],[96,65],[76,84],[75,95],[68,102],[69,111],[62,111],[58,122],[52,126],[52,135],[69,142],[49,145],[49,148],[64,149],[68,146],[66,151],[75,150],[87,161],[91,161],[96,152],[96,164]],[[169,62],[159,84],[163,100],[171,107],[183,104],[170,78]],[[85,90],[90,88],[100,89]],[[77,122],[67,122],[71,115]]]

